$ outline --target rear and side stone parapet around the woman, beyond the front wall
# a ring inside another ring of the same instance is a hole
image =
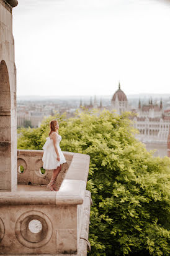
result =
[[[63,179],[81,180],[87,182],[89,171],[89,156],[86,154],[63,152],[66,163],[63,164],[60,174],[56,181],[56,187],[59,189]],[[41,168],[43,150],[17,150],[17,170],[18,170],[18,184],[38,184],[46,185],[51,179],[53,170],[45,170],[42,173]],[[20,170],[23,170],[21,173]]]

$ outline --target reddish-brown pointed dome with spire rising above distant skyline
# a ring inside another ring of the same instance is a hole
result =
[[[125,93],[120,89],[120,82],[119,82],[119,89],[114,93],[111,102],[112,110],[117,110],[117,113],[121,115],[122,112],[128,111],[128,100]]]

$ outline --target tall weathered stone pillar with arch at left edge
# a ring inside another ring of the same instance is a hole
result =
[[[0,0],[0,190],[17,189],[16,66],[12,7],[16,0]]]

